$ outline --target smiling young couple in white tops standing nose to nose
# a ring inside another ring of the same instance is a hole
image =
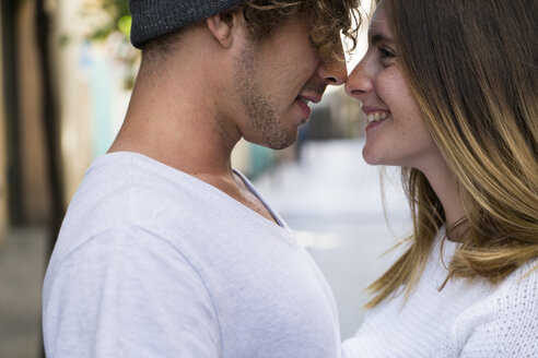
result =
[[[49,263],[48,357],[538,356],[538,7],[381,0],[348,77],[358,5],[130,0],[142,63]],[[341,345],[321,273],[230,155],[292,144],[343,83],[414,230]]]

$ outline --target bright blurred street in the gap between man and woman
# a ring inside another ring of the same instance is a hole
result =
[[[255,180],[324,272],[338,305],[342,339],[362,322],[365,287],[398,254],[384,253],[411,227],[395,168],[385,169],[387,225],[381,169],[364,162],[362,145],[361,139],[307,142],[299,163],[282,164]]]

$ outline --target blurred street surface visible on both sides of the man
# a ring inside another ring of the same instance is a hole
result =
[[[409,227],[396,180],[386,183],[388,229],[379,169],[367,166],[361,151],[361,140],[307,142],[300,162],[282,163],[255,180],[326,275],[342,338],[353,335],[362,321],[364,288],[395,258],[382,254]],[[13,229],[0,241],[0,357],[38,355],[44,241],[39,229]]]

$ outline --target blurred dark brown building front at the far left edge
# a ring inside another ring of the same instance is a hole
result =
[[[35,2],[2,1],[0,226],[43,224],[47,219],[39,57]]]

